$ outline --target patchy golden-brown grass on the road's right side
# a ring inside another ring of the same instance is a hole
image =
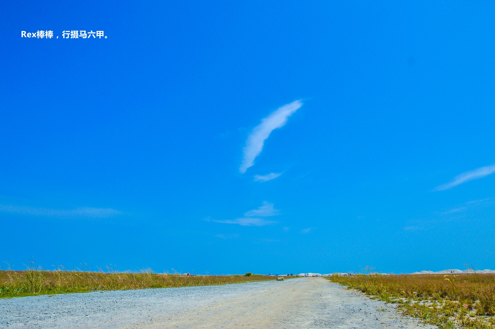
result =
[[[439,328],[495,329],[495,274],[334,275],[370,298],[397,303],[404,314]]]

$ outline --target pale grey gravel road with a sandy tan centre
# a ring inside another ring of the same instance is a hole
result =
[[[43,329],[420,326],[394,305],[323,278],[1,299],[0,318],[0,328]]]

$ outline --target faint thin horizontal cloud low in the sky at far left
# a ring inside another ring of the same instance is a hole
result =
[[[58,218],[73,218],[73,217],[107,218],[107,217],[123,214],[121,211],[111,208],[82,207],[75,209],[49,209],[49,208],[12,206],[12,205],[0,205],[0,211],[11,214],[19,214],[19,215],[58,217]]]

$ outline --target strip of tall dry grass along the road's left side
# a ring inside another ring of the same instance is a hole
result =
[[[151,270],[118,272],[107,268],[106,272],[67,271],[58,268],[46,271],[32,262],[25,271],[0,271],[0,298],[51,295],[69,292],[104,290],[128,290],[145,288],[168,288],[197,285],[219,285],[275,280],[262,275],[180,275],[158,274]]]

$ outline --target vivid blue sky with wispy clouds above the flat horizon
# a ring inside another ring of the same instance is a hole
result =
[[[495,269],[494,3],[0,6],[16,269]]]

